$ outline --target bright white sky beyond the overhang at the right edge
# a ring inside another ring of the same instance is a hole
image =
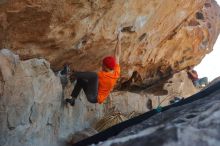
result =
[[[216,0],[220,5],[220,0]],[[213,51],[205,56],[202,62],[195,67],[199,74],[199,78],[208,77],[212,81],[220,76],[220,36],[218,37]]]

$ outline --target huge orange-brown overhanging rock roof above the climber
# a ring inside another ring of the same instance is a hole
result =
[[[97,70],[122,29],[122,80],[138,85],[198,64],[220,30],[214,0],[4,0],[0,48],[46,58],[57,70]]]

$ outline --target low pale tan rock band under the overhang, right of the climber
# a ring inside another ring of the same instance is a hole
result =
[[[136,91],[136,93],[115,91],[107,100],[105,108],[114,107],[116,111],[124,115],[132,112],[140,114],[149,111],[149,99],[152,101],[152,108],[155,109],[159,104],[160,106],[169,105],[170,100],[174,97],[187,98],[198,91],[199,89],[195,88],[186,71],[181,71],[145,90]]]

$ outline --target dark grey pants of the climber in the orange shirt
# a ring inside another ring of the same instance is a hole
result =
[[[84,90],[89,102],[97,103],[98,96],[98,75],[95,72],[76,72],[76,86],[71,96],[77,98],[81,89]]]

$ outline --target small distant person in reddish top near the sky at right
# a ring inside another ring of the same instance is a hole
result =
[[[188,73],[188,77],[192,80],[195,87],[200,88],[203,85],[206,86],[208,84],[208,78],[207,77],[198,78],[198,74],[193,69],[193,67],[190,67],[190,66],[187,67],[187,73]]]

